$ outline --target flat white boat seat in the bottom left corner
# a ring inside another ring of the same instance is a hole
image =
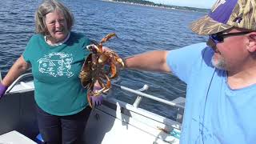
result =
[[[7,144],[37,144],[25,135],[20,134],[16,130],[12,130],[6,134],[0,135],[0,143]]]

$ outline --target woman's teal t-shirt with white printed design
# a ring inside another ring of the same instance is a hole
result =
[[[23,58],[32,66],[34,98],[42,110],[62,116],[76,114],[88,105],[78,75],[90,54],[86,50],[89,44],[88,38],[74,32],[59,46],[48,45],[41,34],[30,38]]]

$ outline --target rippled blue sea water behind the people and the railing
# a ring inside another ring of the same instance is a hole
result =
[[[42,1],[2,0],[0,6],[0,70],[2,76],[22,54],[26,43],[34,34],[34,11]],[[98,0],[63,0],[74,14],[74,31],[86,34],[99,41],[106,34],[114,32],[118,38],[106,42],[106,46],[122,57],[139,54],[148,50],[173,50],[206,38],[193,34],[189,23],[203,13],[167,10],[148,6]],[[118,84],[134,89],[144,84],[150,86],[147,94],[173,100],[185,97],[186,85],[172,74],[122,70]],[[134,102],[135,95],[113,88],[115,97],[126,102]],[[122,96],[121,96],[122,95]],[[175,110],[170,106],[144,98],[141,107],[172,118]]]

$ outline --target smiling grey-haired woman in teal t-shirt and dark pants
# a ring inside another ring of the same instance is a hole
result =
[[[90,40],[71,32],[73,15],[56,0],[46,0],[35,14],[36,33],[0,83],[0,98],[30,66],[38,127],[47,144],[81,143],[90,107],[78,74]],[[94,86],[94,89],[99,89]],[[95,105],[102,97],[92,98]]]

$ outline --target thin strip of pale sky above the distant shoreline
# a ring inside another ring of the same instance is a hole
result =
[[[216,0],[147,0],[154,3],[161,3],[172,6],[190,6],[210,9]]]

